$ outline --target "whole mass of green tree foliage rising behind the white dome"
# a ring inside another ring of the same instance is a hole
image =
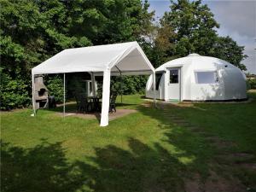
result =
[[[198,53],[218,57],[246,70],[241,64],[247,58],[243,54],[244,47],[230,37],[218,37],[216,28],[219,25],[207,4],[202,4],[201,0],[177,0],[172,1],[170,8],[170,12],[160,20],[156,40],[164,44],[155,45],[162,54],[157,53],[160,58],[154,61],[168,61]]]

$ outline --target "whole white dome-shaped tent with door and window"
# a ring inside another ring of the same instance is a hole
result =
[[[218,58],[190,54],[155,70],[155,96],[165,101],[239,101],[247,99],[246,78],[238,67]],[[153,75],[146,96],[154,97]]]

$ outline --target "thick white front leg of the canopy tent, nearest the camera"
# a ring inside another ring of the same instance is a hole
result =
[[[108,125],[109,95],[110,95],[110,69],[107,68],[103,73],[101,126]]]

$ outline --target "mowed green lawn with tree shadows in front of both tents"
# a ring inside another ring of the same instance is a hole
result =
[[[1,191],[256,191],[252,102],[161,104],[100,127],[31,109],[1,113]],[[118,98],[120,100],[120,98]]]

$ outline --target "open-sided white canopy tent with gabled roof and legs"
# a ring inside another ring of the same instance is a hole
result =
[[[65,49],[47,61],[32,68],[32,104],[34,115],[34,77],[39,74],[88,72],[92,77],[95,94],[96,75],[103,75],[101,126],[108,125],[108,108],[111,75],[154,74],[154,67],[148,61],[137,42],[98,45],[84,48]],[[64,93],[65,106],[65,93]],[[65,107],[63,108],[65,113]]]

